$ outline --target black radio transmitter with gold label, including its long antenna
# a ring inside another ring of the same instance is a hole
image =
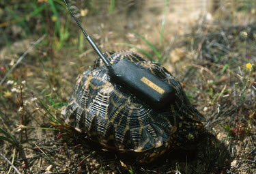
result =
[[[63,0],[63,2],[68,7],[74,20],[76,20],[77,25],[83,31],[89,44],[91,44],[92,48],[94,48],[100,59],[104,62],[106,68],[108,68],[111,80],[122,85],[134,94],[134,96],[157,110],[167,108],[167,104],[175,100],[175,89],[158,78],[158,76],[152,74],[149,70],[142,69],[127,59],[122,59],[115,64],[111,64],[104,57],[94,40],[81,27],[79,21],[70,10],[68,3],[66,3],[66,0]]]

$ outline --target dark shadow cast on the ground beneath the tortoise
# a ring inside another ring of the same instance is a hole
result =
[[[76,139],[76,142],[81,139]],[[91,158],[94,158],[95,164],[81,166],[81,171],[93,172],[96,166],[104,166],[101,169],[110,168],[116,173],[223,173],[230,169],[230,155],[224,143],[216,139],[209,133],[203,132],[199,137],[199,142],[195,150],[175,149],[161,156],[150,164],[131,163],[127,155],[117,154],[115,151],[100,150],[100,147],[94,143],[83,142],[82,149],[76,150],[91,151]],[[90,150],[89,150],[90,149]],[[124,163],[125,164],[124,164]],[[103,170],[104,171],[104,170]]]

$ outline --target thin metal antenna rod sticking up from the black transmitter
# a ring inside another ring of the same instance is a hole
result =
[[[68,10],[70,11],[71,15],[73,16],[74,20],[76,20],[77,25],[79,25],[80,29],[83,31],[83,34],[85,35],[85,38],[87,39],[89,44],[91,44],[92,48],[94,48],[96,53],[100,56],[100,59],[102,59],[102,61],[104,61],[105,65],[109,66],[109,61],[106,59],[106,57],[104,57],[104,55],[100,51],[100,48],[98,48],[98,46],[96,45],[94,40],[92,40],[91,36],[87,35],[87,33],[85,32],[83,27],[80,25],[79,20],[77,20],[76,17],[74,16],[74,14],[73,14],[72,10],[70,9],[70,6],[68,5],[68,3],[65,0],[63,0],[63,2],[66,4],[66,6],[67,6]]]

